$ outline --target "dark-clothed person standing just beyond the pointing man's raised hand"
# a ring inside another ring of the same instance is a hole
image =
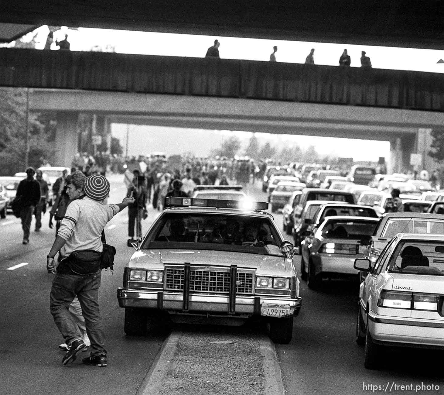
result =
[[[143,211],[147,207],[147,189],[145,188],[145,177],[140,175],[138,169],[133,170],[134,178],[127,196],[135,199],[134,203],[128,205],[128,237],[134,239],[134,227],[136,227],[136,237],[142,241],[142,219]]]

